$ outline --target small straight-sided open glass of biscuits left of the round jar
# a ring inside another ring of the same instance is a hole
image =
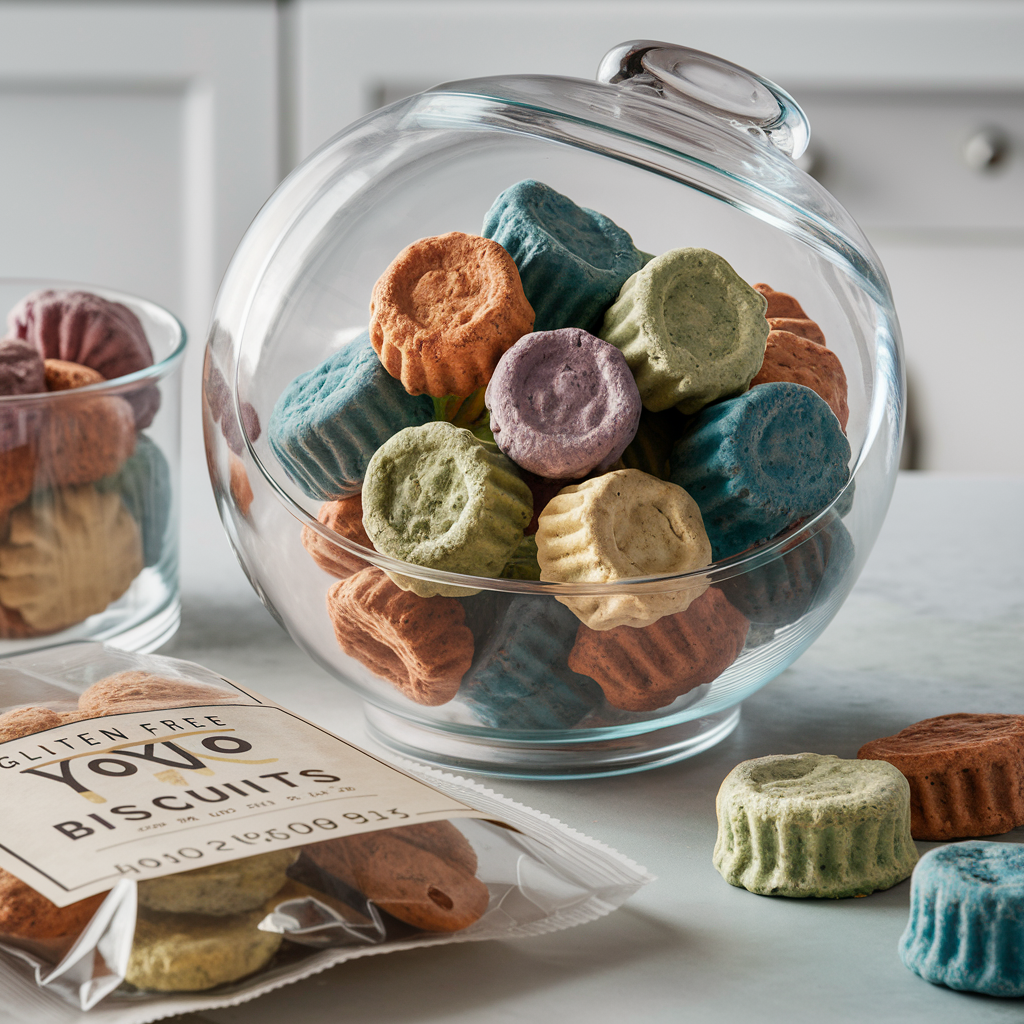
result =
[[[126,306],[154,362],[84,387],[0,396],[0,655],[77,640],[154,650],[181,617],[184,328],[145,299],[69,282],[0,280],[0,312],[44,290]]]

